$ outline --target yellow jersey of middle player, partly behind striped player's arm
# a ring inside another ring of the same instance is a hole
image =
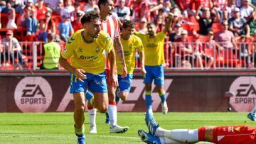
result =
[[[138,50],[139,52],[142,52],[144,50],[142,40],[136,35],[131,35],[129,40],[124,40],[121,36],[120,40],[124,49],[124,60],[127,66],[127,73],[132,74],[135,67],[136,50]],[[116,55],[116,61],[117,61],[117,74],[122,74],[122,62],[117,55]]]

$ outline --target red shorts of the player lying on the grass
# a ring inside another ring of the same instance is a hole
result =
[[[213,143],[255,144],[256,128],[251,126],[218,126],[213,129]]]

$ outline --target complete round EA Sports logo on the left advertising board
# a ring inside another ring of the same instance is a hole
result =
[[[44,112],[50,106],[53,92],[43,77],[25,77],[18,82],[14,99],[22,112]]]

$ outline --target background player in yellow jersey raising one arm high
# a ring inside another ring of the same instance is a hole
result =
[[[164,38],[167,31],[171,26],[173,14],[169,13],[169,21],[163,31],[156,33],[156,26],[154,23],[148,23],[148,34],[137,33],[139,38],[142,39],[145,53],[145,69],[146,77],[144,77],[145,90],[146,90],[146,105],[149,110],[152,110],[151,105],[151,83],[154,79],[156,90],[161,98],[161,108],[163,113],[168,112],[168,107],[165,99],[164,92]]]

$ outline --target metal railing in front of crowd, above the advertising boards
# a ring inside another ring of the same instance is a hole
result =
[[[0,70],[38,70],[43,62],[43,42],[20,42],[21,51],[11,52],[0,43]],[[59,43],[61,48],[65,43]],[[8,45],[8,44],[7,44]],[[188,50],[186,50],[188,49]],[[255,69],[256,43],[237,43],[233,48],[216,48],[210,43],[165,43],[166,69]],[[136,68],[139,69],[139,54]]]

